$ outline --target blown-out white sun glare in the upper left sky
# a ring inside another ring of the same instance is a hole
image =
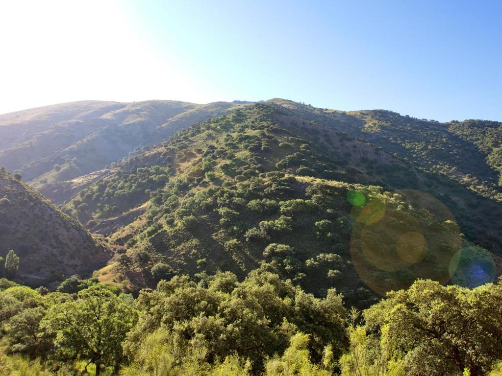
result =
[[[203,83],[194,83],[175,54],[149,42],[125,4],[0,5],[0,35],[9,51],[0,59],[0,113],[87,99],[207,101]]]

